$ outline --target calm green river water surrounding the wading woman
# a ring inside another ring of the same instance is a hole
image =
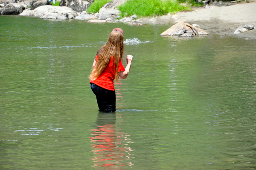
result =
[[[102,114],[88,76],[116,27],[140,42]],[[0,169],[256,169],[256,40],[168,28],[0,16]]]

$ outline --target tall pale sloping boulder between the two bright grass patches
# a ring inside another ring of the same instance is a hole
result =
[[[105,20],[112,15],[118,16],[120,11],[117,9],[117,7],[125,3],[125,1],[126,0],[112,0],[106,3],[101,9],[99,9],[99,19]]]

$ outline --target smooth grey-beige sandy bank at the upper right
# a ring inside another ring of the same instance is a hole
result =
[[[228,5],[228,6],[227,6]],[[256,3],[220,3],[216,2],[207,8],[195,8],[192,12],[177,12],[175,15],[165,15],[154,18],[143,18],[142,21],[151,24],[171,24],[183,20],[186,23],[198,24],[210,34],[221,36],[233,35],[256,39],[256,29],[234,34],[239,26],[248,22],[256,23]]]

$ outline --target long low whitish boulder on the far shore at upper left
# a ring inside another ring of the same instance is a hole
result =
[[[78,16],[78,14],[73,9],[70,9],[67,6],[52,6],[52,5],[39,6],[38,8],[31,11],[26,9],[20,15],[41,17],[43,14],[50,15],[49,13],[64,13],[64,14],[68,13],[70,16],[72,15]],[[56,15],[55,14],[52,15],[52,17],[54,16]]]

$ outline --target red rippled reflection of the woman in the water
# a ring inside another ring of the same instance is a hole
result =
[[[122,115],[118,115],[119,118]],[[92,151],[96,156],[91,158],[96,169],[123,170],[133,164],[129,159],[128,143],[133,143],[127,134],[120,131],[116,124],[116,113],[99,112],[96,129],[91,130]]]

